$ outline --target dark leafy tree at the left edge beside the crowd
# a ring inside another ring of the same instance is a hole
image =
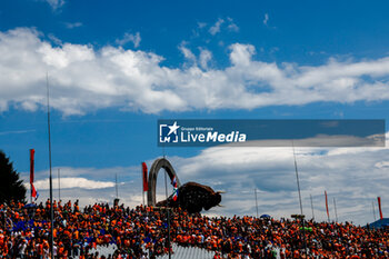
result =
[[[12,162],[0,150],[0,205],[13,201],[26,201],[26,187],[19,173],[13,169]]]

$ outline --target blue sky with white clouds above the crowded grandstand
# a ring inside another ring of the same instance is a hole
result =
[[[110,201],[114,173],[121,189],[140,193],[140,162],[151,166],[163,153],[156,142],[161,118],[388,119],[387,10],[386,1],[1,1],[0,149],[24,178],[28,149],[36,149],[43,199],[47,72],[53,167],[69,182],[64,197],[84,203]],[[249,150],[164,152],[182,182],[229,190],[226,208],[210,213],[252,215],[253,188],[262,190],[261,211],[293,212],[296,188],[285,182],[293,176],[291,151]],[[298,152],[306,206],[312,193],[322,211],[327,189],[345,205],[341,220],[371,221],[377,196],[388,211],[386,148]],[[355,188],[346,191],[350,179]],[[139,203],[134,193],[123,191],[123,201]]]

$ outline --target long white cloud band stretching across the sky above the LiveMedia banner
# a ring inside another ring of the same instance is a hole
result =
[[[198,58],[182,46],[186,59],[196,62],[174,68],[153,52],[68,42],[54,47],[27,28],[0,32],[0,111],[44,104],[47,71],[52,107],[66,116],[108,107],[158,113],[389,99],[388,57],[298,66],[256,60],[251,44],[229,50],[230,66],[212,69],[206,66],[210,51]]]

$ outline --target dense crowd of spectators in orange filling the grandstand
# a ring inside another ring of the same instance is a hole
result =
[[[91,252],[114,243],[112,258],[168,253],[167,210],[139,206],[53,202],[56,258],[106,258]],[[256,217],[209,218],[173,209],[170,241],[215,251],[213,258],[389,258],[388,229],[351,223]],[[0,205],[0,258],[49,258],[50,202]],[[170,250],[170,252],[173,252]]]

